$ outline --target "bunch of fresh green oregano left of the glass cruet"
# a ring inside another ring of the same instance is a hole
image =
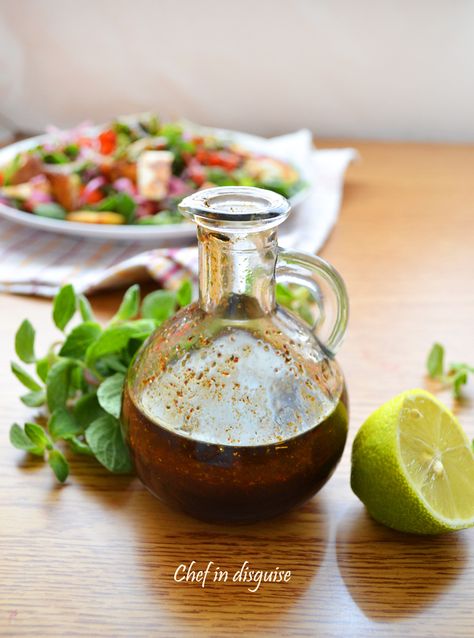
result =
[[[25,319],[15,335],[15,352],[30,369],[15,361],[11,370],[28,390],[21,401],[41,408],[37,422],[17,423],[10,429],[16,448],[47,460],[64,482],[70,453],[95,457],[111,472],[132,469],[120,428],[122,389],[128,366],[143,341],[180,307],[191,302],[186,280],[173,292],[157,290],[140,300],[131,286],[119,309],[102,326],[83,295],[63,286],[53,301],[53,321],[63,336],[42,357],[35,353],[35,329]],[[79,321],[69,328],[74,317]]]

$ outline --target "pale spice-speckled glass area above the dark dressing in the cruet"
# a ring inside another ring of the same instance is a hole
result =
[[[144,385],[143,414],[162,427],[219,445],[270,445],[302,434],[334,409],[284,351],[245,331],[191,350]]]

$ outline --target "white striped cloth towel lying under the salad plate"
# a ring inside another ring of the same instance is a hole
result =
[[[283,247],[312,253],[321,248],[337,221],[344,173],[355,156],[348,148],[312,153],[313,186],[281,227]],[[147,278],[172,288],[196,273],[195,246],[149,250],[139,242],[66,237],[0,219],[0,292],[50,297],[64,283],[90,293]]]

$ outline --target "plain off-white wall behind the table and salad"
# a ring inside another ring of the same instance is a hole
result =
[[[474,141],[474,0],[0,0],[0,125]]]

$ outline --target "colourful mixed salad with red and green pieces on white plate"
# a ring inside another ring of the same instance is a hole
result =
[[[228,185],[257,186],[287,198],[306,186],[287,162],[151,113],[97,128],[51,129],[0,166],[0,204],[83,224],[179,224],[183,197]]]

